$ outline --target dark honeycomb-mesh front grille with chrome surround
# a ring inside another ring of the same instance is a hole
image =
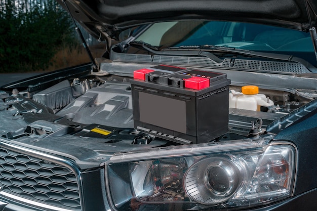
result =
[[[0,148],[2,191],[43,206],[81,210],[76,175],[66,166]]]

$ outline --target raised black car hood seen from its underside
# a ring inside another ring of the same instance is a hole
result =
[[[303,31],[310,27],[309,19],[312,25],[317,20],[317,1],[314,0],[57,1],[63,7],[66,3],[74,19],[101,40],[113,38],[132,26],[169,20],[234,20]]]

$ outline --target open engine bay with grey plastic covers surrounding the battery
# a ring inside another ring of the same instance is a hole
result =
[[[134,69],[143,67],[144,65]],[[235,97],[241,96],[242,87],[247,81],[235,78],[232,70],[219,69],[219,72],[227,74],[228,79],[231,80],[227,90],[229,98],[232,93]],[[250,73],[240,71],[240,74]],[[262,73],[256,74],[262,76]],[[280,76],[275,74],[263,75],[271,81],[280,79]],[[293,80],[307,80],[308,86],[313,85],[316,80],[309,76],[289,75],[289,77]],[[46,89],[34,91],[35,86],[29,86],[24,90],[16,88],[11,92],[2,91],[0,117],[3,121],[0,136],[17,141],[19,144],[31,143],[49,151],[63,151],[60,149],[60,143],[67,143],[64,153],[70,154],[70,148],[75,146],[81,150],[91,151],[91,154],[85,155],[86,158],[78,159],[94,160],[99,157],[100,161],[118,151],[195,143],[173,141],[168,137],[170,134],[155,131],[154,128],[151,130],[137,128],[133,118],[135,102],[132,98],[131,79],[131,74],[89,73],[80,77],[72,74],[63,80],[59,79]],[[258,83],[252,85],[258,85],[258,95],[261,99],[264,98],[268,106],[259,106],[257,110],[250,110],[230,105],[225,113],[227,117],[224,115],[228,119],[225,125],[226,131],[210,139],[211,142],[272,137],[302,116],[298,114],[309,113],[309,107],[316,104],[314,87],[281,89],[277,86],[264,87]],[[228,95],[225,96],[227,97]],[[227,102],[226,99],[224,100]],[[219,100],[212,101],[217,103]],[[218,107],[223,106],[222,104]],[[211,113],[215,112],[216,107],[208,105],[204,112],[209,110]],[[220,122],[223,122],[223,119],[215,118],[213,126],[218,122],[222,124]],[[78,152],[81,150],[74,150],[73,156],[80,157]],[[100,154],[104,155],[101,156],[102,159]]]

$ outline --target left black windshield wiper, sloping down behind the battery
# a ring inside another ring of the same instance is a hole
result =
[[[199,56],[199,57],[207,57],[211,60],[213,60],[216,63],[221,63],[222,60],[214,55],[211,52],[208,51],[202,51],[199,49],[199,51],[194,49],[186,49],[185,51],[178,51],[177,49],[175,51],[160,51],[159,48],[155,46],[151,46],[150,44],[144,43],[143,41],[133,41],[129,43],[130,45],[142,45],[142,48],[146,51],[154,54],[154,55],[163,55],[163,56]]]

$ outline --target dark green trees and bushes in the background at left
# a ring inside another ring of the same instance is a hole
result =
[[[54,0],[0,0],[0,72],[43,70],[67,45],[73,25]]]

